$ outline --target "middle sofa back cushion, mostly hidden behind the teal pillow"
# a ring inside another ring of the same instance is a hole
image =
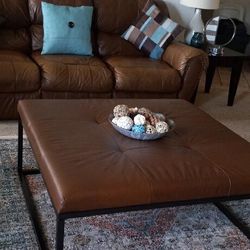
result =
[[[14,1],[14,0],[13,0]],[[43,0],[44,2],[66,5],[66,6],[91,6],[91,0]],[[29,14],[31,19],[31,39],[32,39],[32,49],[41,50],[43,47],[43,17],[41,0],[28,0],[29,2]]]

